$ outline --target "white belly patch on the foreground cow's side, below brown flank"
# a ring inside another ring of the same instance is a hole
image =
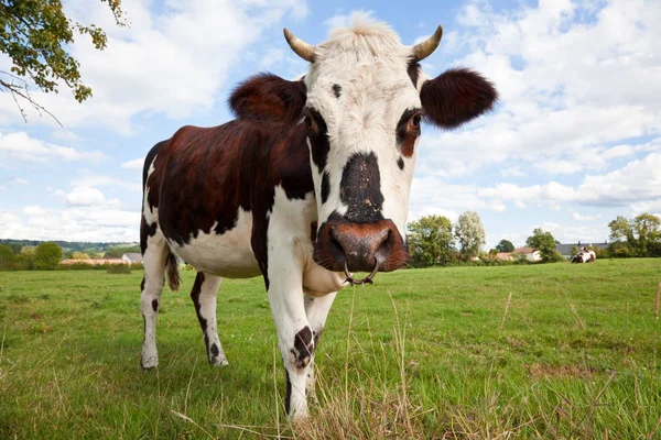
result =
[[[206,233],[197,231],[197,237],[188,243],[178,245],[170,241],[172,251],[199,272],[226,278],[248,278],[260,274],[259,265],[252,253],[252,213],[239,208],[237,224],[223,234],[214,232],[217,223]]]

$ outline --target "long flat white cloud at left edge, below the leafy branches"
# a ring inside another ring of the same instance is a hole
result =
[[[86,161],[98,163],[106,155],[98,151],[82,152],[73,147],[61,146],[31,138],[25,132],[0,133],[0,158],[28,162],[47,162],[51,158],[63,161]]]

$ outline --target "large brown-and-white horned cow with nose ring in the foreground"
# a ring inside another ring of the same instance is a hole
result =
[[[358,21],[314,46],[286,29],[308,62],[297,80],[258,74],[228,103],[236,119],[184,127],[144,161],[140,245],[144,277],[141,365],[158,366],[164,275],[197,271],[191,297],[208,362],[226,365],[216,296],[221,277],[262,276],[286,374],[285,410],[307,414],[318,348],[337,290],[409,260],[405,221],[421,123],[455,129],[492,109],[480,74],[431,78],[420,62],[443,29],[402,45],[386,24]],[[355,272],[369,272],[356,279]]]

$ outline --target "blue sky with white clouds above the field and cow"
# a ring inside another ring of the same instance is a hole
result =
[[[617,216],[661,215],[658,0],[123,0],[127,28],[100,1],[64,4],[104,28],[108,46],[71,47],[91,99],[32,91],[63,127],[28,107],[24,122],[0,94],[2,239],[138,241],[147,152],[182,125],[230,120],[227,97],[246,77],[305,73],[283,26],[317,44],[356,13],[407,45],[442,24],[424,72],[469,67],[500,92],[459,130],[423,127],[409,220],[474,210],[489,249],[538,227],[563,243],[604,242]],[[0,54],[0,70],[10,64]]]

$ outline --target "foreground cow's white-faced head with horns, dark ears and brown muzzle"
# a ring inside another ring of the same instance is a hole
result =
[[[404,46],[387,25],[362,22],[313,46],[284,31],[310,70],[301,81],[269,76],[259,101],[307,131],[319,265],[351,272],[404,265],[421,122],[454,129],[492,108],[496,89],[479,74],[454,68],[432,79],[421,72],[419,62],[442,33],[438,26],[427,41]]]

